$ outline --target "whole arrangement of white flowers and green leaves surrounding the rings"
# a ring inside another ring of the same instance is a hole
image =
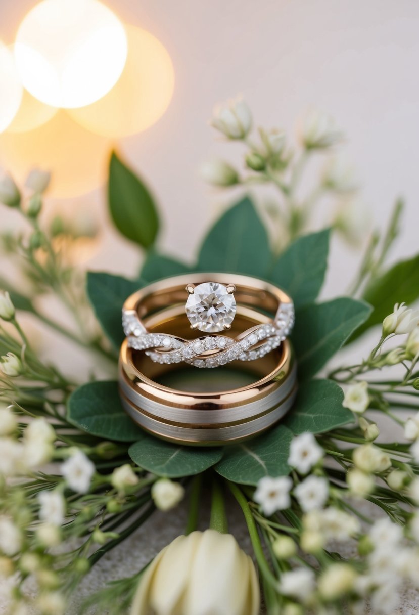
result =
[[[9,176],[0,182],[1,201],[25,221],[22,232],[1,236],[19,273],[2,274],[0,296],[0,574],[9,577],[14,615],[66,613],[104,555],[156,509],[168,511],[170,523],[183,498],[184,536],[89,597],[80,612],[256,615],[262,593],[269,615],[358,614],[368,605],[385,614],[405,587],[419,585],[419,311],[407,306],[419,297],[419,255],[386,263],[402,205],[386,231],[370,237],[348,296],[318,301],[331,233],[353,238],[346,210],[356,183],[331,156],[342,133],[313,112],[291,148],[279,130],[251,136],[252,123],[242,100],[217,109],[213,125],[243,143],[245,167],[216,161],[203,173],[225,188],[273,186],[275,209],[243,197],[208,231],[193,264],[157,250],[155,200],[112,154],[109,207],[119,231],[145,253],[138,279],[86,274],[72,263],[79,234],[61,218],[43,217],[47,175],[33,173],[24,193]],[[303,173],[320,156],[326,170],[304,195]],[[322,199],[334,212],[328,228],[308,232]],[[219,250],[227,238],[234,249]],[[141,431],[122,410],[116,379],[98,379],[95,366],[101,357],[116,378],[121,307],[131,292],[208,269],[262,277],[291,294],[300,386],[294,408],[264,435],[190,448]],[[68,327],[41,308],[41,295],[60,301]],[[23,312],[92,358],[90,381],[75,383],[42,358]],[[340,349],[370,330],[374,348],[342,363]],[[394,424],[391,442],[380,436],[382,417]],[[204,491],[211,514],[198,531]],[[234,527],[229,533],[226,498],[243,512],[251,557]]]

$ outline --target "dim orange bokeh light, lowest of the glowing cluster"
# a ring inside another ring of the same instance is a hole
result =
[[[109,140],[85,130],[60,110],[47,124],[25,133],[0,135],[0,165],[24,182],[31,169],[52,173],[48,194],[74,197],[106,177]]]

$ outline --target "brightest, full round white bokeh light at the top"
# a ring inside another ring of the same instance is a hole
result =
[[[119,19],[98,0],[43,0],[21,23],[15,58],[25,88],[53,107],[90,105],[117,82],[127,59]]]

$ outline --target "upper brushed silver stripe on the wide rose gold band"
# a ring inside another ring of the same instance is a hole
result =
[[[158,418],[176,423],[219,424],[248,419],[251,416],[261,415],[274,408],[292,391],[296,384],[296,376],[297,366],[294,363],[289,375],[286,377],[286,381],[272,393],[254,402],[233,406],[232,408],[221,408],[220,410],[194,410],[194,408],[179,408],[155,402],[148,397],[144,397],[140,392],[133,390],[125,381],[125,378],[123,378],[123,374],[120,375],[119,384],[123,394],[130,402]]]

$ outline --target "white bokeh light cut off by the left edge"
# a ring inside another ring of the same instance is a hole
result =
[[[0,132],[6,130],[15,117],[22,92],[13,54],[0,42]]]

